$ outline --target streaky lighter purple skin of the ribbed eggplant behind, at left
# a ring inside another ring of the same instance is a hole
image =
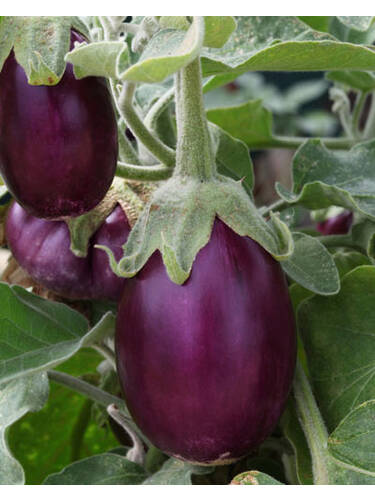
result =
[[[105,252],[94,248],[106,245],[117,259],[122,256],[130,226],[119,205],[92,236],[84,258],[71,252],[65,222],[38,219],[16,202],[9,209],[5,232],[19,265],[49,290],[73,299],[120,299],[124,278],[112,272]]]

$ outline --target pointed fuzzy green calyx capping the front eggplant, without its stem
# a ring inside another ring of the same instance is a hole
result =
[[[114,271],[134,276],[159,249],[169,277],[182,284],[210,238],[215,216],[241,236],[250,236],[276,259],[286,259],[293,252],[286,224],[277,217],[267,224],[240,183],[219,175],[203,183],[172,177],[143,210],[124,246],[124,257],[117,266],[111,261]]]

